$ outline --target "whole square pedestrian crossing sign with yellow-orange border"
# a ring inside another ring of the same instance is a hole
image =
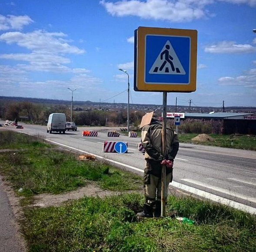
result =
[[[140,26],[134,48],[135,91],[196,91],[196,30]]]

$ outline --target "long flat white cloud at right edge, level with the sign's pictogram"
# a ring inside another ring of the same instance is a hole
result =
[[[234,41],[222,41],[215,45],[207,46],[204,51],[210,53],[248,53],[256,52],[256,46],[236,44]]]

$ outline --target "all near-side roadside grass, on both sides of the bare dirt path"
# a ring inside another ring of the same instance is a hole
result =
[[[143,195],[127,190],[142,189],[140,177],[80,161],[30,136],[17,141],[20,134],[11,134],[2,144],[13,150],[0,152],[0,172],[16,191],[23,188],[20,196],[27,196],[20,223],[28,252],[256,252],[255,215],[193,197],[169,196],[165,218],[138,220]],[[123,193],[83,197],[62,206],[26,206],[34,194],[75,190],[90,181]],[[180,223],[173,214],[195,224]]]

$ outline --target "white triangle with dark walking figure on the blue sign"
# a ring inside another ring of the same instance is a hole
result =
[[[166,41],[165,45],[163,46],[163,49],[157,56],[149,73],[172,75],[186,74],[169,40]]]

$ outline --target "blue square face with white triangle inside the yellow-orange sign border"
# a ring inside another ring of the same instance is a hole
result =
[[[190,37],[146,35],[145,83],[190,83]]]

